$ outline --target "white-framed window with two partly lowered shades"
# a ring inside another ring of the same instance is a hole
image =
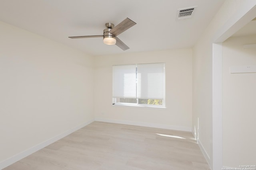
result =
[[[113,104],[165,107],[165,64],[114,65]]]

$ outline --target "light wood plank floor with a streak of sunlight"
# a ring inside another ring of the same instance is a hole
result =
[[[191,133],[93,122],[4,170],[210,170]]]

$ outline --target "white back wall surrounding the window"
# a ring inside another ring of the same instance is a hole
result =
[[[166,109],[112,105],[112,65],[166,63]],[[191,131],[192,49],[95,57],[95,119]]]

